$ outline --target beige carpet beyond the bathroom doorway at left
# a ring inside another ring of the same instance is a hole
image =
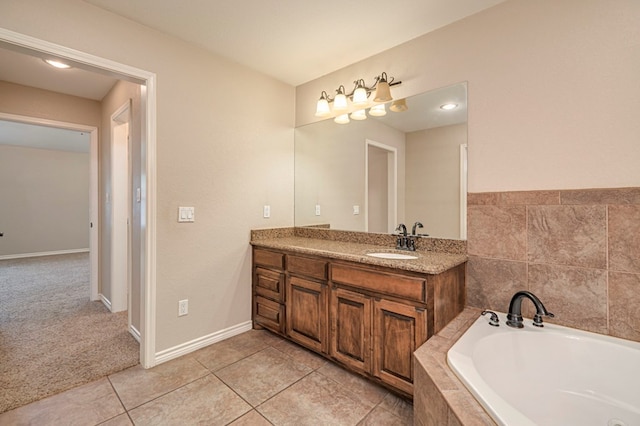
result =
[[[138,357],[127,313],[89,301],[88,253],[0,261],[0,413]]]

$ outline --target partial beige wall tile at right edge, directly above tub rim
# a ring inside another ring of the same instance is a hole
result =
[[[640,341],[640,275],[609,272],[609,334]]]

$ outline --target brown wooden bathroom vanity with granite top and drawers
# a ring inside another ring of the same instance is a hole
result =
[[[466,256],[304,237],[252,241],[253,322],[407,397],[412,354],[464,308]],[[391,251],[391,250],[390,250]]]

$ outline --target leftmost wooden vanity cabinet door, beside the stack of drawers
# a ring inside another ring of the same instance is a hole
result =
[[[289,277],[286,334],[292,340],[327,353],[328,288],[326,284]]]

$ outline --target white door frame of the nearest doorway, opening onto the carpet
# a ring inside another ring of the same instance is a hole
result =
[[[140,364],[156,365],[156,74],[59,44],[0,28],[0,45],[33,56],[54,55],[74,66],[140,84],[141,87],[141,307]]]

